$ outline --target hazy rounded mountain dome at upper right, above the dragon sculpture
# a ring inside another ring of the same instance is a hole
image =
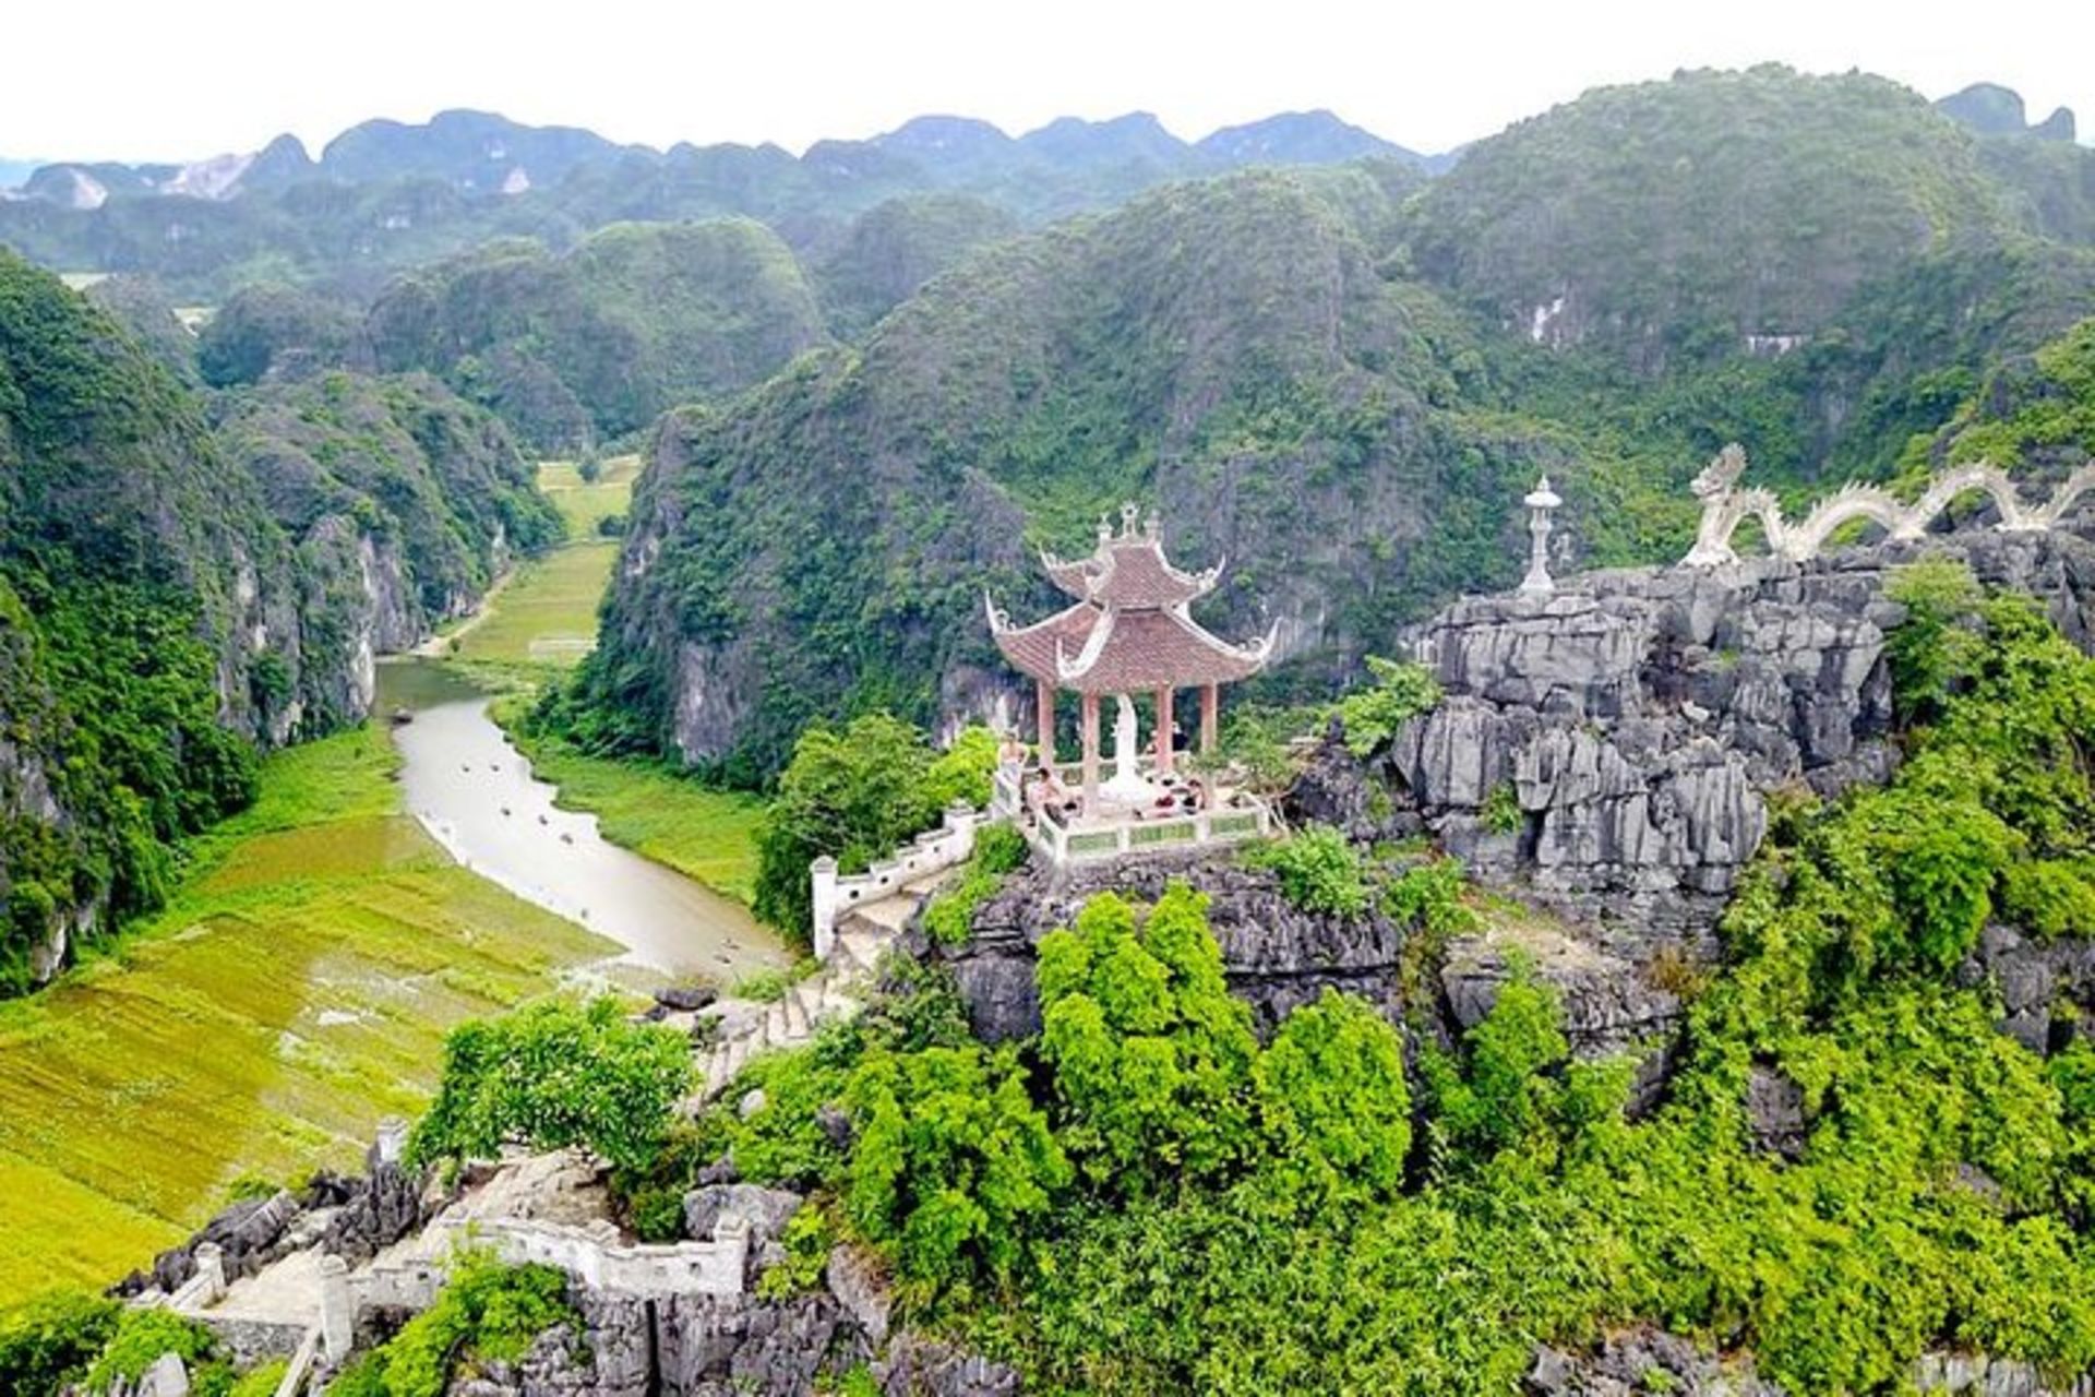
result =
[[[1649,371],[1810,335],[1883,268],[2007,226],[1973,140],[1881,77],[1601,88],[1473,147],[1420,199],[1418,270],[1552,348]]]

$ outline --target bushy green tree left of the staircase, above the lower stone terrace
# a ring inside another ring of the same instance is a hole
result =
[[[536,1003],[453,1028],[436,1102],[409,1158],[490,1158],[505,1144],[589,1146],[641,1169],[662,1146],[691,1083],[691,1045],[670,1028],[626,1022],[618,1001]]]

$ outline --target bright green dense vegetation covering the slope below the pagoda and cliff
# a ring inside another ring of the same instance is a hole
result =
[[[767,1290],[869,1246],[905,1313],[1048,1389],[1492,1393],[1536,1343],[1638,1322],[1787,1391],[1892,1391],[1936,1347],[2082,1372],[2095,1051],[2007,1037],[1961,966],[1990,922],[2095,934],[2095,660],[1961,568],[1892,595],[1906,762],[1777,821],[1642,1116],[1634,1062],[1573,1060],[1519,972],[1414,1072],[1341,995],[1259,1045],[1179,884],[1041,940],[1037,1039],[983,1047],[897,966],[872,1014],[746,1070],[763,1106],[664,1133],[624,1188],[675,1196],[721,1152],[809,1188]],[[1450,865],[1389,880],[1328,831],[1267,863],[1330,915],[1469,915]],[[1795,1148],[1758,1135],[1768,1077]]]

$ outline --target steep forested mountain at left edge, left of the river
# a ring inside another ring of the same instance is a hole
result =
[[[0,993],[166,892],[256,748],[360,718],[371,656],[553,536],[427,381],[218,404],[0,253]]]

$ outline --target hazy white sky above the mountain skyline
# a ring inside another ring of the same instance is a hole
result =
[[[1420,151],[1676,67],[1862,67],[2017,88],[2095,126],[2087,0],[19,0],[0,155],[184,159],[482,107],[618,140],[869,136],[947,111],[1020,132],[1154,111],[1196,138],[1330,107]]]

